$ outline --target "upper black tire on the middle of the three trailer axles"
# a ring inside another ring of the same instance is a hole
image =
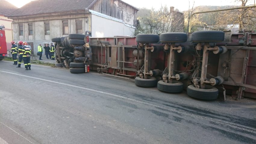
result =
[[[186,42],[188,35],[185,32],[165,32],[160,35],[160,42]]]

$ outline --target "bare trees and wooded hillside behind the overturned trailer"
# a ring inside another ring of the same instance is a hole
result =
[[[195,2],[195,0],[189,0],[188,11],[181,12],[171,7],[171,5],[162,6],[159,10],[140,8],[137,14],[137,25],[134,35],[145,33],[161,34],[163,32],[188,33],[190,20],[192,32],[198,30],[225,31],[234,28],[239,31],[256,31],[256,8],[195,14],[191,17],[196,12],[255,5],[253,0],[233,0],[230,5],[226,6],[198,7],[194,7]]]

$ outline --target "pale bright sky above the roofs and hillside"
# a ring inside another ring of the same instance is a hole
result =
[[[18,8],[27,4],[31,0],[7,0]],[[159,9],[161,5],[167,5],[167,7],[173,6],[175,9],[180,11],[188,10],[188,5],[195,1],[196,6],[200,5],[212,5],[212,6],[221,6],[221,5],[240,5],[236,0],[122,0],[130,5],[135,6],[136,8],[148,8]],[[249,4],[254,4],[256,0],[248,0]],[[192,7],[192,6],[191,6]],[[43,7],[42,7],[43,8]]]

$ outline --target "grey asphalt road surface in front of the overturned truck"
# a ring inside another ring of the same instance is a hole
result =
[[[0,61],[0,143],[256,143],[255,100],[200,101],[95,72],[31,69]]]

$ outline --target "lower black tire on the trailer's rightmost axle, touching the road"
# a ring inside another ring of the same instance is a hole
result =
[[[216,87],[206,85],[206,89],[195,88],[195,85],[189,85],[187,88],[187,94],[190,97],[200,100],[215,100],[218,98],[219,90]]]

